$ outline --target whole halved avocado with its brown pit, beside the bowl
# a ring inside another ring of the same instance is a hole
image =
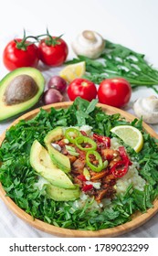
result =
[[[23,77],[27,77],[29,80],[29,91],[27,90],[28,87],[26,87],[26,100],[24,99],[24,91],[22,91],[22,99],[19,101],[18,99],[15,99],[14,101],[14,89],[15,97],[17,97],[17,94],[22,90],[23,85],[25,87],[25,84],[22,84]],[[32,108],[37,103],[37,101],[39,101],[44,88],[45,79],[42,73],[35,68],[19,68],[8,73],[4,79],[0,81],[0,110],[3,110],[0,112],[0,122]],[[9,97],[12,99],[9,99]]]

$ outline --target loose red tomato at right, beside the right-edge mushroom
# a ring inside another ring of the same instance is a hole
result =
[[[127,80],[107,79],[100,83],[98,98],[100,103],[121,108],[131,99],[132,88]]]

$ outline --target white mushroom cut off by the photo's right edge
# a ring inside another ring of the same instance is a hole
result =
[[[139,98],[133,104],[135,114],[145,123],[158,123],[158,98],[150,96]]]

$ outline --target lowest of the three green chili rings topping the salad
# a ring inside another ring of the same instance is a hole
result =
[[[90,161],[90,155],[94,155],[96,160],[99,162],[98,165],[93,165]],[[99,173],[103,168],[102,158],[97,151],[88,151],[86,154],[86,164],[90,167],[90,169],[94,172]]]

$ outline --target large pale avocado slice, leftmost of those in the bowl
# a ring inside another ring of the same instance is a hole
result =
[[[31,146],[30,164],[37,174],[56,187],[75,188],[70,178],[53,164],[46,148],[36,141]]]

